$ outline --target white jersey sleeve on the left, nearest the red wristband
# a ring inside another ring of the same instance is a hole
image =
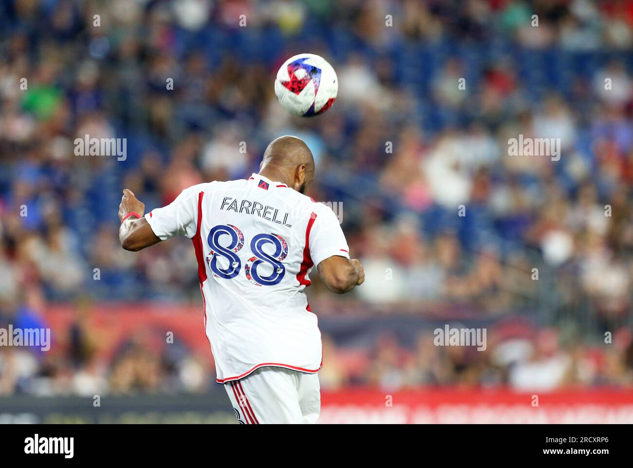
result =
[[[154,208],[145,215],[149,226],[160,240],[177,235],[189,238],[196,235],[197,228],[197,186],[185,188],[173,202]]]

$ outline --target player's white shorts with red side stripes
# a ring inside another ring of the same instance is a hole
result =
[[[321,412],[318,374],[261,367],[224,387],[240,424],[313,424]]]

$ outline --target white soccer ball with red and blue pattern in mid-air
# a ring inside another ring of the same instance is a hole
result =
[[[332,107],[339,82],[332,65],[314,54],[289,58],[277,72],[275,94],[285,110],[310,117]]]

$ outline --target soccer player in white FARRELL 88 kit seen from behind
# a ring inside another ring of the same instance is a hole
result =
[[[282,136],[248,180],[194,185],[145,215],[123,190],[123,249],[191,238],[216,380],[242,424],[316,422],[323,358],[308,274],[316,264],[337,294],[365,280],[334,212],[304,195],[314,171],[308,146]]]

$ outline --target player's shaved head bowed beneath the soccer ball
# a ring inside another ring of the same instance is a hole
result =
[[[260,174],[287,183],[304,193],[315,174],[315,160],[308,145],[296,136],[285,135],[270,142],[261,161]]]

